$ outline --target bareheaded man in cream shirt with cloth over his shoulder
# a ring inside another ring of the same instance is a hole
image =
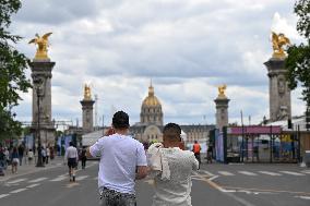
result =
[[[190,150],[182,150],[181,128],[176,123],[164,126],[164,143],[147,150],[151,174],[154,174],[152,206],[191,206],[191,173],[199,162]]]

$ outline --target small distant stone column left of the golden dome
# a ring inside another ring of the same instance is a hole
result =
[[[80,101],[82,105],[82,119],[83,119],[83,133],[90,133],[94,131],[93,124],[93,105],[94,100],[83,99]]]

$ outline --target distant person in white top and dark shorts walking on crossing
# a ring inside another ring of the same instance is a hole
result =
[[[67,161],[69,168],[70,182],[75,182],[75,168],[79,161],[79,154],[72,142],[69,143],[69,147],[65,149],[64,161]]]

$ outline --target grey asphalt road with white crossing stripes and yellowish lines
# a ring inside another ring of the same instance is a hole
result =
[[[12,177],[0,182],[0,205],[98,205],[97,169],[97,161],[88,162],[76,183],[65,167]],[[192,179],[193,206],[310,205],[310,170],[295,165],[203,165]],[[138,182],[138,205],[151,205],[152,186],[150,179]]]

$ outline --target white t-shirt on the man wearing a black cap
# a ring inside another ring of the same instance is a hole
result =
[[[93,157],[100,156],[98,187],[134,194],[136,166],[147,166],[143,145],[131,136],[112,134],[90,147]]]

